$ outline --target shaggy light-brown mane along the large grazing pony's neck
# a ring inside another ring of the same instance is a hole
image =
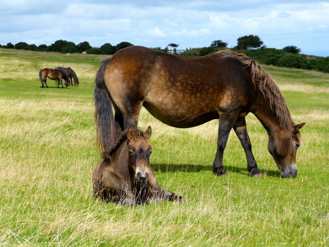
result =
[[[257,61],[250,59],[245,54],[238,53],[230,49],[221,50],[219,52],[228,53],[239,59],[240,62],[245,65],[245,69],[247,69],[251,75],[254,86],[256,87],[257,85],[263,95],[265,96],[266,94],[269,98],[271,109],[276,114],[280,127],[288,136],[291,136],[295,123],[291,118],[286,100],[282,96],[280,89],[275,84],[269,73],[266,72]],[[297,138],[299,140],[300,135],[297,135]]]

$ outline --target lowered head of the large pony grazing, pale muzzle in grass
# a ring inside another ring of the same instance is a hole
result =
[[[276,165],[281,171],[281,177],[295,178],[297,176],[296,152],[301,144],[299,129],[305,123],[293,126],[292,134],[287,136],[282,134],[278,138],[269,136],[268,151],[273,156]]]

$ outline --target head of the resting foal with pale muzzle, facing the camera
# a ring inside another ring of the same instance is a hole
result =
[[[149,139],[152,129],[140,131],[130,126],[127,130],[128,137],[128,163],[139,183],[145,183],[148,178],[149,158],[152,152]]]

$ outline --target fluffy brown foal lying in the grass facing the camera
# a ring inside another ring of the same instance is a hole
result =
[[[163,190],[149,165],[151,127],[141,131],[130,126],[117,143],[102,153],[92,173],[94,197],[125,206],[185,198]]]

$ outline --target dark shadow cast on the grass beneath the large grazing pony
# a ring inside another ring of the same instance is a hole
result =
[[[210,173],[213,172],[213,166],[209,165],[190,165],[190,164],[150,164],[152,169],[155,172],[165,171],[165,172],[202,172],[202,171],[209,171]],[[236,166],[223,166],[226,172],[235,172],[240,173],[243,175],[249,175],[247,168],[241,168]],[[280,171],[273,171],[273,170],[265,170],[260,169],[263,175],[268,177],[280,177]]]

